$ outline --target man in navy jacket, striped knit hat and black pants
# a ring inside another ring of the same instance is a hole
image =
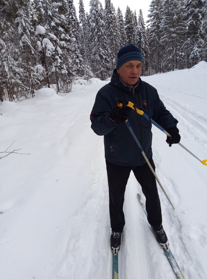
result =
[[[112,250],[119,250],[121,244],[121,234],[125,225],[124,193],[131,170],[146,197],[148,222],[155,231],[158,242],[161,245],[166,243],[168,245],[162,227],[155,177],[124,122],[129,120],[134,134],[155,170],[151,149],[151,123],[126,104],[130,101],[138,105],[163,127],[172,136],[166,140],[169,146],[180,141],[179,130],[176,127],[178,121],[165,108],[157,90],[139,77],[142,65],[143,57],[138,47],[133,44],[122,47],[117,55],[117,66],[111,81],[98,91],[90,116],[93,131],[97,135],[104,135]],[[118,103],[123,103],[123,100],[126,103],[120,108]]]

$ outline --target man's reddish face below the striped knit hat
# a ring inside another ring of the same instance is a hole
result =
[[[135,85],[139,79],[142,70],[142,62],[139,60],[130,60],[124,63],[117,73],[126,85]]]

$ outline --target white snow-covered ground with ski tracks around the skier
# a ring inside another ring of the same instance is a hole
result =
[[[207,63],[143,77],[179,120],[181,143],[207,159]],[[0,103],[0,278],[108,279],[112,274],[103,137],[90,128],[96,93],[108,81],[76,84],[67,95]],[[207,166],[153,127],[163,226],[185,279],[206,279]],[[21,149],[21,150],[19,150]],[[174,279],[130,176],[119,253],[120,279]],[[144,196],[141,193],[144,200]]]

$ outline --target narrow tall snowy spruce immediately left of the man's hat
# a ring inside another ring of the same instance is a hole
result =
[[[119,28],[117,28],[119,23],[117,21],[116,13],[110,0],[105,0],[104,23],[107,45],[110,53],[110,70],[112,72],[116,67],[117,53],[120,45],[120,33]]]

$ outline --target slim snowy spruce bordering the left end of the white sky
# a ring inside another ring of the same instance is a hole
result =
[[[66,20],[71,30],[71,38],[72,38],[71,60],[72,60],[73,72],[78,76],[83,76],[84,65],[83,65],[83,57],[80,51],[81,49],[80,27],[76,15],[76,9],[73,4],[73,0],[67,0],[67,6],[68,6],[68,15],[66,16]]]

